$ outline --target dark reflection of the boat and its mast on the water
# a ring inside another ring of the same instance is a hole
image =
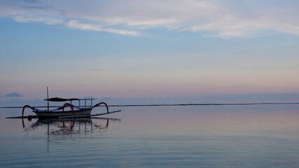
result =
[[[62,148],[60,146],[62,141],[66,143],[65,146],[68,146],[77,139],[92,139],[92,134],[105,137],[109,123],[120,123],[120,121],[118,118],[33,118],[29,120],[22,119],[22,127],[27,134],[35,134],[34,132],[43,132],[43,130],[46,130],[46,137],[42,135],[41,139],[47,139],[45,147],[47,155],[50,156],[50,146],[51,148],[57,148],[57,146]],[[85,136],[81,137],[81,134]],[[36,136],[34,136],[34,139],[36,139]],[[55,151],[55,149],[53,150]]]

